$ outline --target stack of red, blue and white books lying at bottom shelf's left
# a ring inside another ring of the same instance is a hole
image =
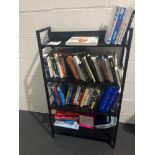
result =
[[[79,129],[79,116],[78,113],[69,113],[63,111],[56,111],[54,126]]]

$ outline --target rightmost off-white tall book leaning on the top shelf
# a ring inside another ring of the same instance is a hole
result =
[[[122,30],[120,32],[120,35],[119,35],[119,38],[118,38],[118,41],[117,41],[117,44],[119,44],[119,45],[121,45],[121,43],[123,41],[123,37],[124,37],[126,29],[128,27],[132,12],[133,12],[133,8],[129,7],[128,10],[127,10],[127,14],[125,16],[125,19],[123,21],[124,24],[123,24]]]

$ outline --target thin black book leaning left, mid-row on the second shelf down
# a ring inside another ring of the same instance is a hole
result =
[[[95,68],[95,66],[94,66],[94,63],[93,63],[93,61],[91,60],[90,55],[87,55],[86,59],[87,59],[88,65],[89,65],[89,67],[90,67],[90,69],[91,69],[91,71],[92,71],[92,74],[93,74],[95,80],[96,80],[97,82],[99,82],[100,80],[99,80],[99,77],[98,77],[98,75],[97,75],[97,72],[96,72],[96,68]]]

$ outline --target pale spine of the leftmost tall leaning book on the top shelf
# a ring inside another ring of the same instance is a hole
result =
[[[115,28],[115,25],[116,25],[116,21],[117,21],[117,18],[118,18],[118,14],[119,14],[119,7],[116,7],[114,9],[114,12],[115,12],[115,14],[114,14],[112,26],[110,27],[111,29],[109,29],[109,34],[107,34],[106,39],[105,39],[106,44],[110,44],[111,37],[112,37],[113,31],[114,31],[114,28]]]

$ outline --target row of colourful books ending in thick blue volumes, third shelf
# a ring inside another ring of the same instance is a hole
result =
[[[101,87],[84,87],[48,82],[49,96],[54,98],[57,106],[76,105],[87,106],[90,110],[99,107],[100,112],[114,111],[118,99],[119,88],[109,86],[105,90]]]

